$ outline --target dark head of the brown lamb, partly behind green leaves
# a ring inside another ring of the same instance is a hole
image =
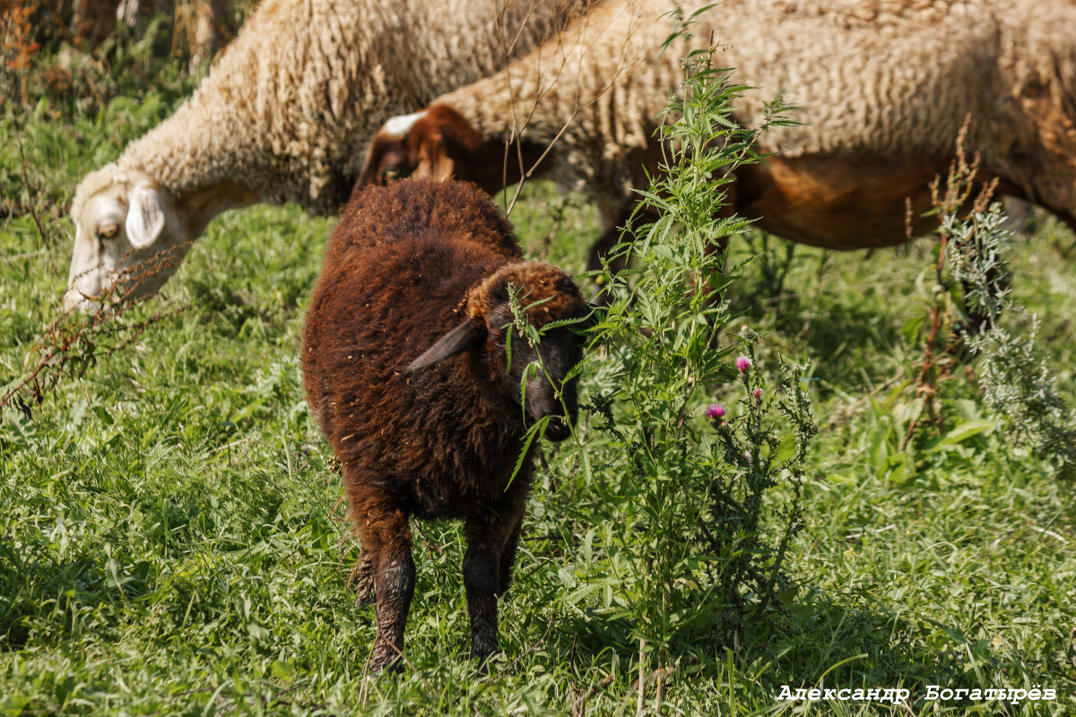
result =
[[[514,326],[510,286],[515,287],[526,321],[540,332],[536,345]],[[512,263],[472,287],[465,304],[467,317],[414,359],[408,371],[477,349],[492,393],[522,405],[527,424],[548,417],[547,439],[568,438],[579,405],[574,372],[582,359],[579,330],[590,314],[576,283],[547,263]]]

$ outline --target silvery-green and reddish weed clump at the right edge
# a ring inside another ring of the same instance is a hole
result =
[[[1035,348],[1039,321],[1013,298],[1006,255],[1014,241],[1002,206],[992,202],[996,183],[975,191],[979,158],[963,153],[944,189],[932,186],[937,229],[937,263],[931,332],[919,390],[940,425],[937,382],[954,362],[974,361],[986,407],[1015,446],[1046,457],[1062,478],[1076,477],[1076,421],[1059,393],[1053,371]],[[909,436],[911,431],[909,429]]]

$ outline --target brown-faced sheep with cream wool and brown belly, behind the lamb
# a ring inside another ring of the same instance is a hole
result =
[[[690,15],[709,2],[682,4]],[[556,177],[593,193],[607,228],[622,220],[629,189],[646,186],[642,169],[657,167],[656,117],[683,76],[683,46],[660,52],[670,25],[657,18],[672,6],[603,4],[504,72],[438,98],[407,132],[383,129],[360,183],[383,182],[385,157],[408,147],[425,147],[416,173],[428,173],[437,162],[426,137],[442,133],[454,174],[496,189],[506,162],[494,149],[521,139],[526,170],[556,139]],[[695,19],[689,47],[712,39],[714,66],[752,87],[740,123],[760,125],[779,94],[799,107],[791,117],[801,125],[759,140],[777,155],[736,175],[735,209],[761,227],[832,248],[905,241],[905,198],[917,216],[929,207],[928,184],[968,116],[964,146],[980,153],[982,178],[1076,226],[1073,2],[731,0]],[[507,178],[518,163],[513,148]],[[416,167],[412,157],[404,173]]]

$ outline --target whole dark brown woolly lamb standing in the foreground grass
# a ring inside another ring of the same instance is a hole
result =
[[[303,383],[340,459],[372,572],[374,669],[404,644],[410,516],[465,520],[471,651],[497,648],[496,596],[509,582],[533,448],[512,472],[528,422],[550,417],[547,436],[568,435],[577,403],[565,377],[580,357],[579,338],[564,327],[537,348],[516,334],[506,357],[510,284],[535,326],[585,314],[571,278],[523,261],[489,198],[453,182],[367,191],[326,253],[303,333]],[[546,371],[527,374],[521,405],[521,381],[539,355]]]

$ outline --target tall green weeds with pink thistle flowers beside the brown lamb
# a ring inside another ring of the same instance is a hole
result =
[[[783,367],[767,390],[758,333],[738,332],[738,362],[734,346],[721,347],[733,320],[722,292],[739,267],[725,271],[720,240],[748,224],[722,216],[725,187],[737,167],[760,159],[756,135],[788,120],[778,102],[761,127],[736,125],[733,104],[746,88],[713,68],[711,55],[685,58],[683,97],[659,130],[668,155],[634,215],[657,218],[629,223],[596,276],[608,305],[592,329],[587,355],[597,365],[586,370],[591,398],[581,406],[604,434],[591,436],[591,451],[607,442],[619,463],[610,494],[621,501],[618,555],[629,557],[612,572],[624,596],[619,612],[639,644],[640,708],[654,669],[660,709],[678,639],[709,629],[737,647],[752,608],[759,615],[782,597],[816,430],[801,369]],[[708,410],[708,395],[726,383],[738,383],[740,408]],[[589,469],[585,455],[581,464]]]

